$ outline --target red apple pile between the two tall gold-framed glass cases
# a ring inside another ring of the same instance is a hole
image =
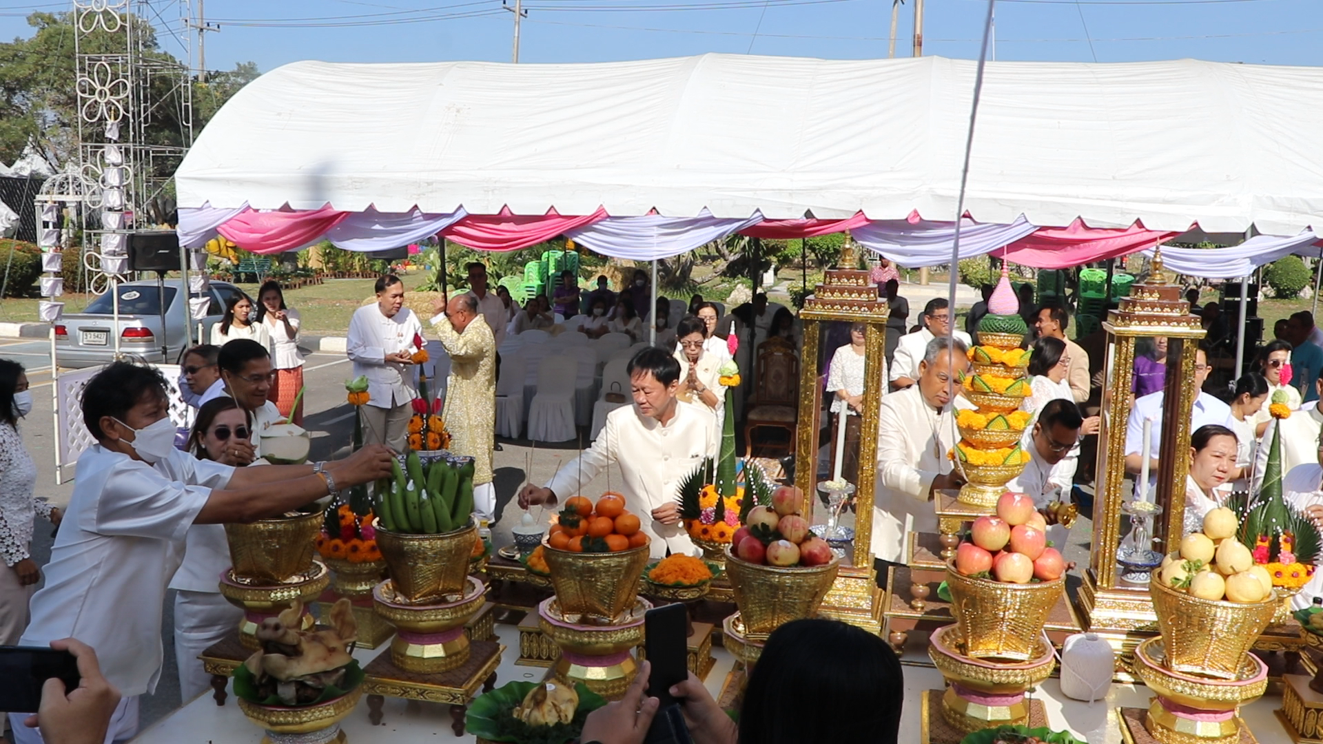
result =
[[[1024,494],[1002,494],[996,516],[980,516],[970,541],[955,549],[955,571],[1005,584],[1053,581],[1066,571],[1065,559],[1048,547],[1048,524]]]

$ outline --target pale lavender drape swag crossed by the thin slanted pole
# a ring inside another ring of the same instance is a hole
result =
[[[1037,226],[1021,214],[1009,225],[975,222],[966,218],[960,224],[960,258],[972,258],[1009,245]],[[885,256],[901,266],[935,266],[951,262],[951,242],[955,222],[934,220],[873,220],[855,228],[849,234],[865,248]]]

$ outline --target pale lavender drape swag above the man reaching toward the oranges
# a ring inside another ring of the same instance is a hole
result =
[[[654,261],[688,253],[704,244],[724,238],[762,221],[754,212],[746,218],[713,217],[704,209],[697,217],[607,217],[566,234],[574,242],[613,258]]]

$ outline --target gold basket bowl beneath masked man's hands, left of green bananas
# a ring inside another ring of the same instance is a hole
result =
[[[234,575],[266,584],[280,584],[312,568],[318,532],[325,506],[298,516],[258,519],[247,524],[226,524]]]

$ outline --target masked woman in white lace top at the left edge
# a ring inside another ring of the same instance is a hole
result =
[[[61,512],[33,498],[37,466],[22,446],[19,420],[32,412],[28,376],[17,361],[0,359],[0,646],[13,646],[28,625],[28,598],[41,579],[32,549],[37,515],[60,524]]]

